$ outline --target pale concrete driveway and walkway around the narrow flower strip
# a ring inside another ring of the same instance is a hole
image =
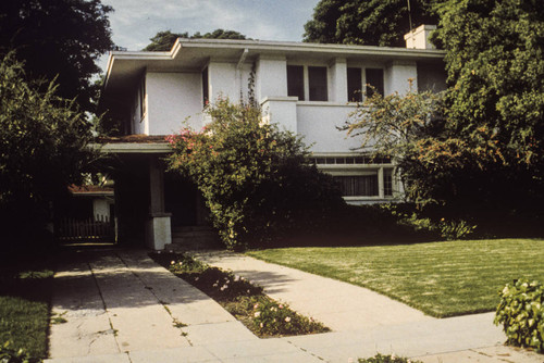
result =
[[[47,362],[348,362],[384,354],[423,362],[544,362],[507,348],[493,314],[435,320],[359,287],[239,254],[197,258],[235,271],[332,333],[259,339],[146,251],[81,253],[54,278]],[[183,323],[183,324],[181,324]]]

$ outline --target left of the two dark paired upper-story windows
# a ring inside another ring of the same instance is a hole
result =
[[[326,77],[325,66],[287,65],[287,95],[299,101],[327,101]]]

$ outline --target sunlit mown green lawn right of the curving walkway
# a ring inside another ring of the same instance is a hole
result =
[[[515,278],[544,283],[544,239],[284,248],[247,254],[368,287],[437,317],[494,311],[498,291]]]

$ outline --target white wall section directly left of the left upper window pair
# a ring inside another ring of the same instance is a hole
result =
[[[257,61],[255,91],[258,101],[287,97],[287,61],[285,58]]]

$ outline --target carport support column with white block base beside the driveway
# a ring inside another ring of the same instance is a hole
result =
[[[164,172],[157,157],[149,160],[149,218],[146,226],[146,245],[153,250],[172,243],[170,213],[164,211]]]

